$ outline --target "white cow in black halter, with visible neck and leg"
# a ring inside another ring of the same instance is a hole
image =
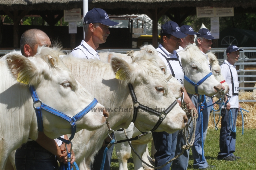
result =
[[[62,61],[84,87],[91,89],[92,94],[109,107],[108,119],[113,130],[127,128],[133,118],[133,111],[130,110],[133,108],[133,101],[127,87],[128,83],[132,83],[138,101],[148,107],[167,108],[176,100],[168,89],[162,70],[156,66],[157,60],[146,53],[135,56],[134,63],[127,63],[115,56],[111,58],[111,64],[73,57],[64,57]],[[115,73],[120,69],[125,80],[115,78]],[[141,131],[150,131],[158,119],[158,116],[151,112],[140,109],[134,124]],[[173,133],[182,129],[186,121],[185,112],[177,104],[156,131]],[[82,130],[75,135],[73,150],[81,169],[90,169],[90,164],[101,148],[107,131],[108,128],[103,126],[95,131]]]

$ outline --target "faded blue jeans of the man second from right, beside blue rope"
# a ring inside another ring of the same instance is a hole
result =
[[[205,96],[205,98],[206,98],[205,106],[211,105],[212,98],[208,97],[208,96]],[[211,111],[211,106],[205,108],[202,111],[202,116],[200,115],[200,113],[198,114],[198,119],[197,119],[197,124],[196,124],[195,142],[194,142],[194,145],[191,147],[192,153],[193,153],[193,159],[194,159],[193,167],[196,169],[208,167],[208,163],[205,159],[205,156],[204,156],[204,160],[202,160],[202,133],[203,133],[203,142],[205,144],[205,138],[206,138],[206,134],[207,134],[207,127],[208,127],[210,111]],[[201,127],[202,126],[201,119],[203,119],[203,128]]]

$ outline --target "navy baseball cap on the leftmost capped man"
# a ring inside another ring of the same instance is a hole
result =
[[[116,26],[119,24],[118,22],[111,21],[106,11],[101,8],[93,8],[86,13],[83,25],[90,23],[101,23],[106,26]]]

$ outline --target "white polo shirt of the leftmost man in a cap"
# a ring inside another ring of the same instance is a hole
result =
[[[78,58],[97,58],[100,60],[99,54],[97,51],[95,51],[90,45],[88,45],[84,40],[82,40],[81,44],[74,48],[74,50],[71,51],[71,53],[74,57]]]

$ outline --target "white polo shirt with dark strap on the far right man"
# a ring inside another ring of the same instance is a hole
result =
[[[230,68],[230,69],[229,69]],[[220,66],[221,69],[221,74],[224,77],[225,81],[228,83],[229,86],[229,95],[231,96],[229,99],[230,103],[230,108],[238,108],[238,95],[232,95],[233,90],[232,90],[232,82],[231,82],[231,73],[230,70],[232,71],[232,76],[233,76],[233,81],[234,81],[234,92],[238,93],[239,92],[239,81],[238,81],[238,75],[237,75],[237,70],[236,66],[233,66],[230,64],[227,60],[224,60],[224,63]]]

